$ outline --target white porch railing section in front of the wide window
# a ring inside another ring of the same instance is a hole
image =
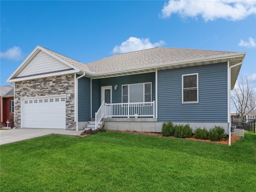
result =
[[[152,117],[155,118],[155,101],[138,103],[106,103],[105,117]]]

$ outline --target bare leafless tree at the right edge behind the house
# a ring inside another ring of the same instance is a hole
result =
[[[242,119],[250,111],[256,108],[256,94],[254,88],[255,86],[252,82],[252,76],[240,76],[240,79],[236,81],[231,101]]]

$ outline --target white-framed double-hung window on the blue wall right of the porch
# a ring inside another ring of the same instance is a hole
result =
[[[198,103],[198,73],[182,75],[182,103]]]

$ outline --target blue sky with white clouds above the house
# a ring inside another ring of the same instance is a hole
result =
[[[256,1],[0,1],[0,85],[37,45],[88,63],[156,46],[247,52],[256,80]]]

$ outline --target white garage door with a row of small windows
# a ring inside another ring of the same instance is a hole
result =
[[[23,98],[22,128],[66,128],[65,95]]]

